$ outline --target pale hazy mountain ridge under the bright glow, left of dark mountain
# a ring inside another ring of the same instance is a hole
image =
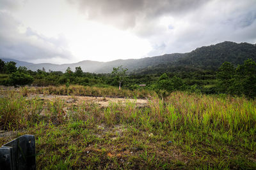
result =
[[[185,55],[182,53],[172,53],[172,54],[164,54],[156,57],[146,57],[143,59],[127,59],[127,60],[113,60],[109,62],[98,62],[92,60],[83,60],[81,62],[72,63],[72,64],[51,64],[51,63],[40,63],[40,64],[26,64],[28,69],[36,71],[37,69],[41,69],[44,67],[45,71],[63,71],[70,67],[73,71],[76,67],[81,66],[84,72],[90,73],[111,73],[113,71],[113,67],[124,66],[130,72],[134,69],[142,69],[148,66],[154,66],[158,64],[166,64],[172,63]],[[9,59],[12,60],[12,59]],[[22,65],[24,62],[15,60],[17,66]],[[25,66],[25,65],[24,65]]]

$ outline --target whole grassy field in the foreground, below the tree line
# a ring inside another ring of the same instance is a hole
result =
[[[2,89],[0,145],[36,138],[37,169],[256,169],[256,101],[97,87]],[[35,94],[120,96],[100,107]],[[29,97],[32,96],[33,97]],[[147,97],[147,106],[136,99]],[[65,108],[65,109],[64,109]]]

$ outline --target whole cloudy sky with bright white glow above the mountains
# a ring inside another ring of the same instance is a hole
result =
[[[0,0],[0,58],[64,64],[256,43],[256,0]]]

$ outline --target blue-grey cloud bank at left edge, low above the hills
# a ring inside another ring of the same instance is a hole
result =
[[[0,23],[1,57],[31,62],[72,57],[64,36],[47,38],[24,27],[6,11],[0,11]]]

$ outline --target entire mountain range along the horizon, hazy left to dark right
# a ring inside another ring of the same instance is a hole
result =
[[[73,64],[32,64],[30,62],[17,62],[17,66],[26,66],[36,71],[45,68],[46,71],[65,71],[67,67],[75,70],[81,66],[83,71],[90,73],[111,73],[113,67],[124,66],[132,73],[162,73],[168,71],[189,71],[196,69],[217,69],[225,61],[232,64],[243,64],[246,59],[256,60],[256,45],[250,43],[234,43],[225,41],[211,46],[202,46],[189,53],[172,53],[143,59],[113,60],[110,62],[97,62],[84,60]],[[3,59],[10,61],[12,59]]]

